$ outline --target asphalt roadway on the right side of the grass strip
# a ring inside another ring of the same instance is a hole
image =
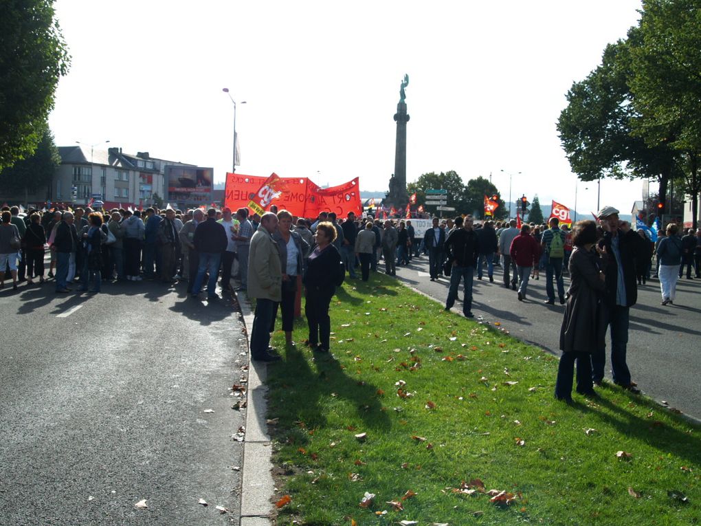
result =
[[[382,264],[380,265],[382,267]],[[445,302],[449,278],[430,281],[428,256],[414,258],[408,267],[397,267],[397,278],[425,294]],[[564,276],[565,290],[569,279]],[[632,379],[655,400],[666,401],[697,419],[701,418],[701,279],[679,280],[674,306],[661,306],[660,283],[656,279],[638,288],[638,302],[630,311],[627,362]],[[462,298],[462,287],[458,294]],[[557,294],[557,288],[556,288]],[[543,304],[545,271],[540,280],[529,282],[527,299],[519,302],[516,292],[503,286],[501,267],[495,267],[494,283],[483,276],[473,290],[472,312],[477,319],[496,321],[512,336],[547,351],[560,354],[559,331],[564,306]],[[462,312],[462,304],[456,303]],[[607,338],[607,346],[610,339]],[[610,360],[610,353],[608,354]],[[611,378],[610,361],[606,375]],[[553,379],[554,382],[554,379]]]

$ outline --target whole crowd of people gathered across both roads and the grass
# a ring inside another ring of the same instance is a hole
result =
[[[701,229],[681,230],[670,223],[652,243],[646,231],[620,221],[618,210],[599,210],[598,222],[580,221],[572,231],[557,218],[548,224],[475,222],[470,215],[433,219],[423,236],[411,220],[375,220],[348,213],[339,220],[321,213],[314,220],[276,210],[250,217],[247,208],[193,209],[182,212],[114,209],[107,211],[29,210],[4,207],[0,222],[0,288],[9,273],[13,288],[24,281],[54,278],[55,292],[72,284],[97,293],[105,281],[161,281],[168,287],[186,281],[191,297],[206,283],[207,298],[217,299],[235,278],[237,291],[256,300],[250,348],[252,358],[275,361],[270,346],[278,311],[287,345],[292,338],[295,299],[304,287],[308,338],[314,351],[329,352],[329,304],[346,275],[369,281],[384,260],[384,271],[428,255],[431,281],[449,278],[445,309],[458,299],[463,283],[463,314],[472,318],[472,288],[485,276],[494,282],[494,267],[503,269],[503,287],[528,297],[530,279],[545,270],[546,304],[566,304],[555,396],[571,401],[573,365],[576,390],[595,396],[593,386],[604,378],[605,335],[610,327],[613,381],[637,391],[626,364],[629,308],[637,286],[659,278],[662,305],[674,304],[676,282],[701,277]],[[45,276],[46,247],[50,260]],[[653,257],[656,262],[653,263]],[[360,267],[360,276],[356,269]],[[692,271],[695,276],[692,276]],[[570,286],[564,288],[563,274]],[[556,296],[557,288],[557,296]]]

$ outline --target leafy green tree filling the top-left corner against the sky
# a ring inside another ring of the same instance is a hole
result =
[[[6,0],[0,17],[0,170],[25,159],[42,140],[70,58],[53,0]]]

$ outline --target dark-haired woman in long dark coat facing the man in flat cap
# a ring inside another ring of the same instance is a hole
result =
[[[606,276],[600,270],[597,225],[580,221],[574,227],[574,250],[569,259],[571,284],[560,329],[563,351],[557,370],[555,398],[572,403],[573,367],[577,362],[577,392],[594,396],[591,355],[604,347],[606,323],[602,305]]]

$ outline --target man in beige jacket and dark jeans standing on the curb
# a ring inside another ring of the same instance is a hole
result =
[[[278,243],[273,232],[278,228],[278,216],[268,212],[253,234],[248,255],[248,296],[256,299],[256,311],[251,331],[251,357],[260,362],[274,362],[280,356],[270,347],[270,326],[275,302],[282,299],[283,269],[280,266]]]

